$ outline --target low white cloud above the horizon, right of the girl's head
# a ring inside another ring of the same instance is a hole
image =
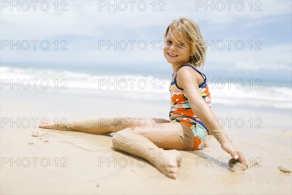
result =
[[[283,70],[291,71],[292,68],[292,44],[278,44],[262,47],[262,50],[207,50],[207,62],[218,67],[216,64],[224,64],[231,70]]]

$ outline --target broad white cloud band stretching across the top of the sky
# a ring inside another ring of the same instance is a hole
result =
[[[82,35],[96,38],[107,34],[109,29],[119,31],[119,29],[132,30],[159,25],[166,27],[170,21],[182,15],[187,15],[201,23],[207,22],[209,28],[212,26],[219,28],[219,25],[222,24],[243,22],[244,20],[248,22],[247,24],[243,23],[243,25],[251,25],[252,21],[257,21],[258,24],[261,21],[264,22],[267,17],[276,18],[291,14],[291,1],[256,1],[260,4],[255,1],[253,3],[240,1],[244,3],[242,11],[237,11],[237,7],[240,6],[237,1],[232,1],[230,11],[228,11],[227,1],[220,1],[225,7],[223,11],[218,10],[219,1],[180,1],[180,3],[177,1],[155,1],[154,4],[152,1],[143,1],[146,2],[147,6],[145,11],[140,11],[141,8],[138,6],[140,1],[135,1],[133,11],[130,10],[129,3],[126,3],[127,10],[121,11],[122,5],[118,6],[120,1],[71,0],[65,1],[68,3],[65,7],[68,11],[64,12],[55,11],[54,1],[49,2],[50,9],[46,12],[41,11],[38,4],[36,11],[32,10],[32,5],[29,11],[21,9],[17,11],[16,8],[10,11],[10,7],[2,8],[1,39],[48,39],[48,37],[60,35]],[[105,2],[107,5],[101,7],[101,2]],[[109,3],[115,3],[116,7],[110,7]],[[209,5],[213,3],[213,7],[208,7],[208,3]],[[252,8],[251,5],[253,5]],[[59,4],[58,9],[62,6]],[[142,6],[140,5],[140,7]],[[256,7],[262,11],[255,11]],[[114,11],[115,8],[117,11]],[[158,11],[159,8],[164,11]]]

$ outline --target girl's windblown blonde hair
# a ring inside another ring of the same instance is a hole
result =
[[[193,55],[189,59],[190,62],[197,67],[203,67],[206,56],[206,44],[198,24],[187,17],[173,20],[166,28],[164,39],[168,33],[170,33],[171,37],[174,39],[172,35],[174,31],[177,32],[182,40],[187,41],[187,47],[190,48],[191,54]],[[178,41],[176,39],[174,40],[178,44]]]

